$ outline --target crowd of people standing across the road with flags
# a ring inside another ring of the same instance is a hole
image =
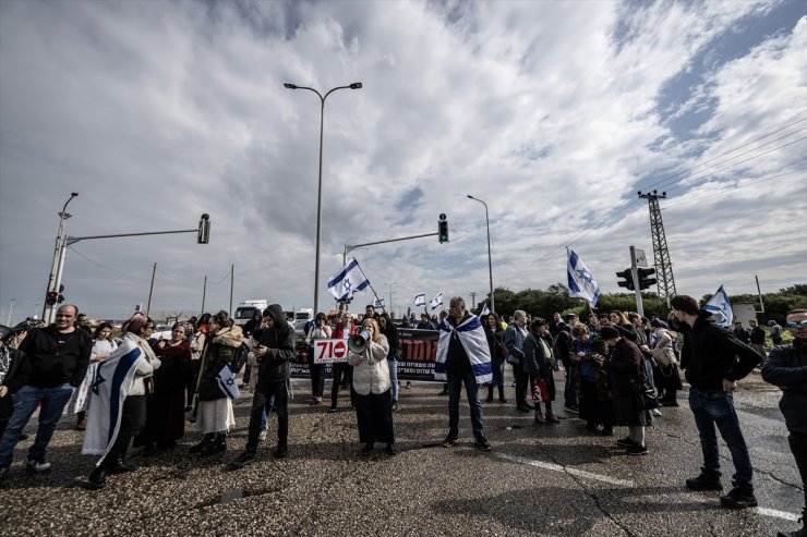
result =
[[[756,505],[750,456],[733,392],[736,382],[766,358],[761,329],[755,321],[748,331],[742,326],[722,329],[686,295],[675,296],[671,307],[666,320],[610,312],[592,313],[588,322],[574,314],[555,314],[547,321],[516,310],[505,321],[495,313],[478,317],[462,298],[453,297],[437,327],[425,315],[419,325],[439,332],[434,379],[445,382],[448,395],[443,446],[450,448],[459,438],[465,387],[475,447],[491,450],[479,392],[486,387],[485,402],[494,402],[497,395],[499,403],[507,403],[505,367],[510,364],[515,406],[532,412],[537,425],[561,420],[553,402],[554,376],[563,368],[566,414],[577,416],[595,435],[611,437],[615,427],[626,427],[627,436],[616,444],[629,455],[646,455],[647,428],[660,415],[657,406],[678,406],[684,370],[703,457],[700,474],[687,479],[687,487],[722,490],[720,431],[735,467],[733,488],[721,502],[735,509]],[[170,339],[154,338],[155,322],[143,314],[130,318],[118,338],[109,324],[88,329],[79,315],[75,306],[63,305],[49,327],[0,327],[0,478],[9,473],[14,447],[37,407],[38,428],[26,468],[50,468],[47,447],[67,407],[75,415],[76,429],[85,431],[83,453],[99,455],[87,478],[88,488],[103,488],[109,473],[135,469],[127,459],[130,444],[142,447],[146,456],[176,447],[185,434],[189,414],[203,434],[191,453],[221,454],[236,423],[234,379],[243,365],[242,388],[252,391],[249,438],[227,467],[238,469],[255,461],[273,411],[277,416],[274,456],[288,454],[290,363],[296,359],[297,341],[280,305],[270,305],[243,327],[236,326],[227,312],[205,314],[174,324]],[[794,342],[774,346],[762,376],[783,390],[781,408],[804,479],[807,310],[791,312],[786,327]],[[344,313],[332,321],[317,314],[305,328],[312,404],[322,403],[325,387],[324,367],[311,359],[315,340],[359,335],[362,342],[350,345],[347,362],[334,364],[328,408],[337,410],[340,388],[350,391],[360,455],[371,453],[376,443],[389,455],[398,453],[393,419],[399,407],[397,330],[390,316],[373,306],[361,319]]]

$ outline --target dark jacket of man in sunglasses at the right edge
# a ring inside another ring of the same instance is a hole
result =
[[[762,378],[782,389],[779,410],[787,430],[807,435],[807,345],[794,340],[774,346],[762,366]]]

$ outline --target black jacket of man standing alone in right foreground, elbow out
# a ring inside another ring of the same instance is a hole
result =
[[[684,333],[680,365],[686,369],[686,379],[692,388],[722,390],[723,379],[744,378],[763,358],[710,317],[709,312],[701,309],[694,326],[680,324]]]

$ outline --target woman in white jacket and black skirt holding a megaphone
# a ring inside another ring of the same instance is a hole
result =
[[[395,455],[398,448],[393,431],[392,383],[387,364],[389,343],[373,318],[364,319],[361,330],[348,342],[348,364],[353,366],[359,441],[364,444],[360,454],[370,454],[375,442],[382,442],[386,444],[385,451]]]

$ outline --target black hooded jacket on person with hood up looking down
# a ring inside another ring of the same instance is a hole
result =
[[[273,326],[262,329],[255,335],[258,345],[268,349],[266,354],[257,357],[258,385],[286,382],[289,379],[289,362],[294,359],[297,344],[297,334],[286,320],[282,307],[273,304],[267,309],[274,321]]]

